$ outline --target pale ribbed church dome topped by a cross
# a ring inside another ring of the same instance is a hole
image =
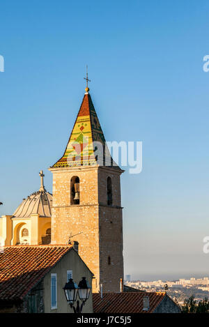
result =
[[[40,189],[29,195],[26,199],[23,199],[20,206],[13,213],[13,217],[27,218],[34,213],[38,213],[40,217],[51,217],[52,194],[45,190],[43,185],[43,177],[45,175],[43,172],[41,171],[39,175],[41,178]]]

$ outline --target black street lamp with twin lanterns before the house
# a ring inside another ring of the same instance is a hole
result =
[[[82,313],[83,306],[88,300],[91,291],[91,287],[88,284],[86,277],[82,277],[78,287],[76,282],[73,282],[72,278],[70,278],[69,282],[67,282],[65,287],[63,287],[63,290],[65,291],[66,300],[70,304],[70,307],[73,308],[74,313]],[[79,301],[77,301],[77,307],[75,307],[74,303],[77,299],[77,294],[79,294],[79,299],[82,301],[82,305],[79,305]]]

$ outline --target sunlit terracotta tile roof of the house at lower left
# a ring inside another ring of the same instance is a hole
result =
[[[18,301],[72,249],[72,245],[15,245],[0,251],[0,301]]]

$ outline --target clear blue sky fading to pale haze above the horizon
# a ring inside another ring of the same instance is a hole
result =
[[[0,214],[38,190],[65,149],[84,94],[107,141],[142,141],[122,176],[125,273],[208,274],[208,1],[3,1]]]

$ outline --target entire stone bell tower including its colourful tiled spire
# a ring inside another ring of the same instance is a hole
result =
[[[87,76],[88,78],[88,76]],[[123,218],[119,168],[106,146],[86,88],[65,153],[53,174],[52,244],[79,243],[92,271],[93,292],[120,291]]]

